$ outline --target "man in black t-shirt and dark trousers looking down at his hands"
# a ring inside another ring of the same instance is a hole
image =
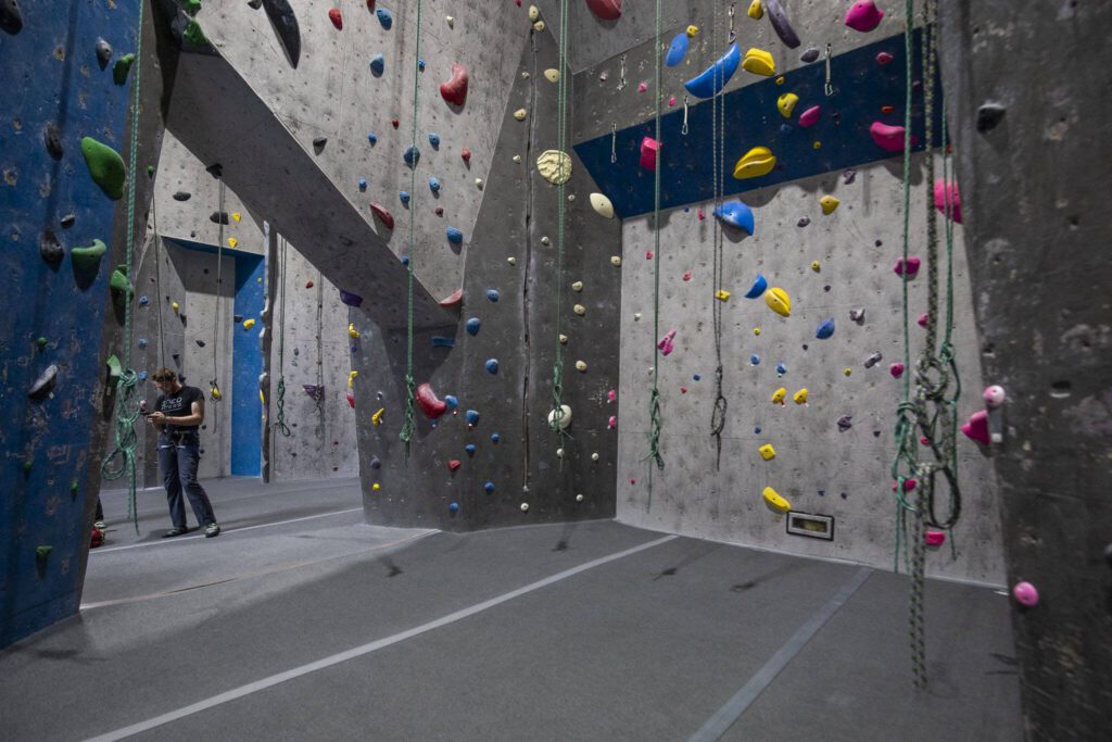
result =
[[[180,536],[189,531],[186,525],[186,504],[181,499],[182,489],[189,497],[197,523],[205,527],[205,536],[219,536],[220,526],[212,515],[212,504],[205,488],[197,482],[197,466],[201,461],[198,428],[205,421],[205,395],[195,386],[182,386],[178,382],[178,375],[170,368],[159,368],[151,378],[162,394],[155,403],[155,410],[143,409],[143,415],[159,432],[158,463],[162,469],[166,497],[170,503],[170,521],[173,523],[173,527],[162,537]]]

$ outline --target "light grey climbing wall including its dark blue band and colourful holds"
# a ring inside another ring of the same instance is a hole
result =
[[[914,362],[930,293],[925,270],[916,270],[934,192],[917,151],[914,255],[904,266],[903,128],[894,130],[906,110],[903,19],[847,20],[801,3],[790,18],[772,8],[754,18],[744,9],[731,17],[728,4],[716,14],[709,2],[688,6],[669,9],[664,32],[658,235],[645,166],[657,138],[647,92],[655,29],[634,12],[613,29],[589,16],[573,26],[576,38],[607,39],[580,49],[613,55],[580,58],[589,66],[576,76],[575,136],[625,217],[618,517],[891,567],[905,535],[892,496],[893,432],[914,373],[904,357],[903,291]],[[628,46],[615,46],[615,36]],[[913,76],[913,136],[922,141],[917,66]],[[935,86],[935,142],[941,93]],[[941,176],[941,158],[935,166]],[[952,343],[962,384],[981,389],[961,237],[957,227]],[[967,393],[957,415],[964,422],[982,406]],[[935,492],[941,518],[956,507],[961,518],[931,536],[927,570],[1003,583],[992,468],[965,436],[956,455],[962,499],[951,501],[941,476]]]

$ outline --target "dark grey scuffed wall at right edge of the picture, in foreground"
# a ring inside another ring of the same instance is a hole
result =
[[[1007,393],[993,457],[1009,581],[1041,595],[1013,603],[1027,738],[1108,739],[1112,102],[1094,92],[1109,89],[1112,6],[963,0],[942,13],[981,358]],[[986,105],[1003,117],[979,127]]]

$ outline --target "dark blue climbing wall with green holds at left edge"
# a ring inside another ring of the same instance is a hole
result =
[[[126,157],[128,87],[113,83],[111,63],[100,69],[96,43],[103,37],[116,56],[135,51],[139,6],[23,2],[21,9],[22,30],[0,31],[0,646],[78,607],[89,543],[86,483],[100,463],[90,458],[90,431],[106,378],[99,352],[113,266],[106,256],[96,278],[79,286],[68,250],[95,238],[108,243],[122,204],[92,181],[80,141],[93,137]],[[48,123],[61,132],[57,160],[43,145]],[[75,217],[69,228],[67,215]],[[48,229],[67,250],[56,267],[39,255]],[[59,368],[52,395],[29,399],[51,364]],[[37,558],[39,546],[52,551]]]

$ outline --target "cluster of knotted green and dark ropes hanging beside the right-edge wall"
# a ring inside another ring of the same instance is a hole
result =
[[[911,219],[911,137],[912,137],[912,86],[914,0],[905,0],[904,44],[906,49],[906,98],[904,110],[904,178],[903,178],[903,247],[904,264],[907,263],[910,248]],[[939,26],[937,1],[925,0],[923,9],[922,56],[923,56],[923,119],[924,119],[924,152],[926,164],[926,182],[934,182],[934,95],[935,76],[937,71]],[[949,184],[950,165],[946,131],[945,103],[942,110],[943,178]],[[953,545],[952,528],[961,516],[961,489],[957,482],[957,417],[956,406],[961,396],[961,378],[957,372],[954,346],[952,343],[953,316],[953,205],[947,200],[945,209],[946,236],[946,319],[945,334],[942,343],[937,337],[939,318],[939,234],[937,217],[933,204],[933,189],[927,188],[926,197],[926,254],[927,254],[927,288],[929,306],[926,316],[926,339],[923,353],[915,365],[915,393],[911,392],[911,379],[904,377],[903,402],[897,408],[895,426],[896,454],[892,462],[892,477],[895,481],[896,501],[896,540],[894,568],[900,568],[901,547],[904,562],[911,573],[911,596],[909,605],[909,639],[911,644],[912,671],[916,689],[924,689],[926,677],[926,651],[924,630],[923,592],[925,586],[926,526],[943,528],[951,532],[951,548]],[[947,189],[949,191],[949,189]],[[949,199],[949,195],[947,195]],[[903,324],[904,324],[904,366],[910,368],[911,343],[909,336],[909,301],[907,281],[903,286]],[[949,395],[951,382],[953,394]],[[949,395],[949,396],[947,396]],[[917,426],[917,431],[916,431]],[[930,448],[932,461],[921,461],[917,436],[922,435]],[[940,520],[935,512],[935,479],[942,474],[950,488],[950,514]],[[911,534],[909,537],[907,515],[911,514]],[[910,543],[909,543],[910,542]],[[910,546],[910,557],[907,554]]]

